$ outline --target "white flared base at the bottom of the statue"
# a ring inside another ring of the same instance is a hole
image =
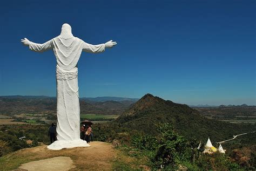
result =
[[[90,147],[90,145],[84,140],[64,141],[57,140],[47,146],[49,149],[60,150],[62,148],[73,148],[73,147]]]

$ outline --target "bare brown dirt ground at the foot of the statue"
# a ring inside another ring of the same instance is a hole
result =
[[[112,145],[98,141],[93,141],[90,143],[90,145],[91,147],[77,147],[71,149],[62,149],[59,151],[52,151],[46,148],[46,146],[26,148],[13,153],[11,156],[9,156],[9,161],[6,160],[5,162],[14,162],[16,158],[19,158],[19,163],[17,163],[18,167],[16,168],[28,170],[33,170],[35,165],[40,165],[42,168],[41,170],[49,170],[49,168],[51,168],[50,170],[63,170],[55,169],[58,163],[68,164],[63,166],[64,168],[67,167],[70,170],[111,170],[112,161],[117,155],[117,152],[114,150]],[[68,158],[57,158],[56,160],[56,157],[60,156]],[[50,162],[51,160],[49,159],[51,158],[57,162]],[[21,166],[21,164],[24,165]]]

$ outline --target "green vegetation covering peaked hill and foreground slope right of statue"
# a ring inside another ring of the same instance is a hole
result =
[[[218,141],[255,131],[252,124],[231,124],[207,119],[187,105],[146,94],[112,122],[93,125],[95,138],[128,147],[131,155],[147,156],[153,169],[186,166],[190,170],[254,169],[256,134],[225,142],[226,155],[203,154],[208,137]],[[202,143],[201,148],[199,142]]]

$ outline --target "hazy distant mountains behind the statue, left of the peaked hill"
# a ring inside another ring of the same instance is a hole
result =
[[[136,99],[117,97],[98,97],[89,99],[80,98],[80,113],[121,114],[136,101]],[[111,99],[115,99],[115,101]],[[17,113],[35,112],[55,113],[56,107],[56,97],[22,95],[0,96],[0,114],[14,115]]]

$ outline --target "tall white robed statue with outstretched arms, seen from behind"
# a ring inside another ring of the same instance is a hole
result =
[[[80,107],[78,95],[77,63],[82,51],[99,53],[105,47],[113,47],[116,42],[91,45],[74,37],[69,24],[62,25],[59,36],[43,44],[30,42],[24,38],[21,42],[36,52],[53,49],[56,60],[57,80],[57,141],[48,146],[49,149],[72,147],[88,147],[86,141],[80,139]]]

